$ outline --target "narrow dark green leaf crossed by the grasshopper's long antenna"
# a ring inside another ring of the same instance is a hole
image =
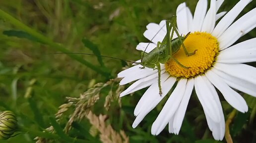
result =
[[[87,47],[88,49],[90,49],[93,54],[95,54],[97,56],[98,62],[100,63],[101,66],[105,67],[103,61],[102,61],[102,57],[100,56],[100,50],[98,48],[97,45],[95,45],[93,42],[91,42],[89,39],[87,38],[83,38],[82,42],[84,44],[85,47]]]

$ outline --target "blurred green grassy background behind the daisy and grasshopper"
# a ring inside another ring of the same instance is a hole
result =
[[[170,18],[176,13],[177,6],[184,1],[0,0],[0,9],[49,40],[61,43],[71,52],[93,53],[89,48],[94,48],[105,56],[135,61],[140,58],[140,52],[135,50],[136,45],[148,41],[143,37],[146,25]],[[238,1],[225,0],[220,11],[228,11]],[[197,0],[186,0],[192,13],[196,2]],[[256,0],[242,14],[255,7]],[[58,107],[67,102],[65,97],[79,97],[95,83],[115,78],[122,67],[127,65],[119,60],[102,58],[103,63],[99,63],[97,57],[75,55],[104,72],[101,74],[66,54],[49,55],[61,52],[53,44],[37,42],[37,39],[24,33],[21,33],[21,37],[27,38],[16,37],[15,32],[15,36],[6,36],[11,35],[13,30],[24,31],[11,24],[8,19],[0,18],[0,110],[12,110],[17,114],[19,124],[27,128],[42,131],[49,127],[49,117],[54,117]],[[256,37],[255,30],[239,41],[252,37]],[[116,87],[117,84],[114,85]],[[103,91],[103,100],[106,97],[104,93],[110,88]],[[113,104],[108,111],[103,105],[97,104],[95,112],[116,118],[110,119],[109,123],[117,131],[124,130],[130,143],[221,143],[212,140],[202,107],[195,95],[190,100],[180,135],[169,134],[167,128],[159,136],[150,134],[151,125],[164,102],[151,111],[139,127],[132,129],[135,119],[133,109],[144,91],[122,98],[122,107]],[[256,143],[256,99],[241,94],[248,101],[250,110],[236,115],[231,124],[231,135],[234,143]],[[225,115],[228,115],[233,108],[222,101]],[[88,124],[87,120],[79,122],[81,125],[86,123]],[[89,127],[85,129],[89,130]],[[74,133],[69,136],[86,138]],[[0,143],[35,143],[35,137],[20,134]],[[95,143],[99,143],[99,139],[95,138]],[[225,143],[225,139],[222,142]],[[54,140],[51,143],[64,142]]]

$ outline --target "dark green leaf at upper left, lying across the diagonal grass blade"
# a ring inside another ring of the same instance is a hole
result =
[[[31,41],[42,42],[38,38],[31,36],[30,34],[24,32],[24,31],[8,30],[8,31],[3,31],[2,34],[6,35],[6,36],[15,36],[18,38],[26,38]]]

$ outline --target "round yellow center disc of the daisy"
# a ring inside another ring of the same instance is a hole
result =
[[[176,77],[194,77],[200,73],[207,71],[219,51],[218,41],[214,36],[207,33],[195,32],[190,34],[184,41],[184,45],[189,53],[197,50],[194,55],[187,56],[183,47],[173,55],[165,64],[165,70]]]

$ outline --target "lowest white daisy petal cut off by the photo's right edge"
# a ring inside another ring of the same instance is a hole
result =
[[[212,72],[219,75],[230,87],[233,87],[237,90],[240,90],[244,93],[256,97],[256,84],[245,81],[243,79],[237,78],[235,76],[226,74],[224,72],[218,71],[215,68],[212,68]]]

